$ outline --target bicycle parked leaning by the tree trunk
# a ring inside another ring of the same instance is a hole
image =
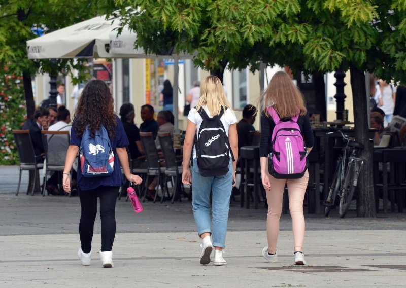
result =
[[[359,152],[364,149],[364,146],[362,143],[352,140],[342,131],[336,131],[340,132],[341,136],[347,141],[347,143],[342,150],[342,155],[340,155],[337,160],[337,166],[335,168],[331,186],[329,187],[328,197],[327,200],[323,202],[323,205],[325,206],[324,214],[327,217],[338,196],[340,198],[339,214],[341,218],[344,218],[350,207],[355,188],[358,184],[358,175],[364,161],[357,156],[359,155]],[[343,167],[347,167],[347,169],[343,169]]]

